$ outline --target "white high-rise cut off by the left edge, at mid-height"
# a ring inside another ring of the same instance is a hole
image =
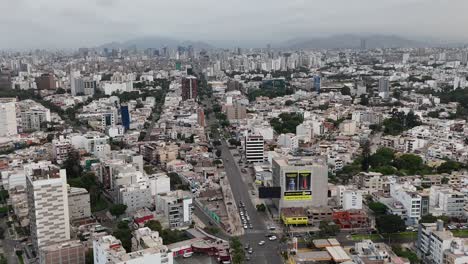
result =
[[[18,134],[15,101],[15,98],[0,99],[0,137],[9,137]]]

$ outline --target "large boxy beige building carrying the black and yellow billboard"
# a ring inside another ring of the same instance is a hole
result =
[[[273,186],[281,187],[278,208],[327,206],[328,167],[325,159],[276,158],[272,162]]]

